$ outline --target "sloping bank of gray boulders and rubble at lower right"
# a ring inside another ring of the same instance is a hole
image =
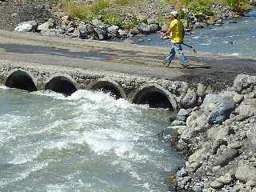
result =
[[[164,137],[187,155],[170,191],[256,191],[256,77],[212,93],[188,90]]]

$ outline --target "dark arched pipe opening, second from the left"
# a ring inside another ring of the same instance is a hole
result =
[[[53,90],[54,92],[70,96],[77,91],[77,88],[68,78],[55,77],[46,84],[46,90]]]

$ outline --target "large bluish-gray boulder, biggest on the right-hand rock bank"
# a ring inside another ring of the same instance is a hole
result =
[[[235,109],[236,105],[230,97],[223,97],[217,103],[217,106],[210,112],[207,122],[210,125],[222,124],[230,117],[231,112]]]

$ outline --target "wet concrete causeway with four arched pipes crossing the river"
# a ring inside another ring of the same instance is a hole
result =
[[[166,48],[154,46],[0,30],[0,79],[10,87],[50,89],[66,91],[66,94],[77,89],[104,88],[118,98],[153,106],[159,103],[149,100],[158,92],[168,98],[165,102],[169,101],[172,108],[177,109],[178,100],[189,85],[202,82],[221,89],[232,85],[238,74],[256,74],[254,59],[209,53],[186,53],[191,65],[188,69],[181,69],[177,60],[167,68],[163,64],[166,52]],[[24,86],[21,82],[34,83],[34,86]],[[65,83],[60,82],[70,82],[71,86],[67,89]],[[145,90],[145,94],[138,93],[141,90]],[[145,96],[146,93],[151,94]]]

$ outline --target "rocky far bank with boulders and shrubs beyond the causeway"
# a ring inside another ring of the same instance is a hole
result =
[[[147,0],[139,6],[122,6],[104,10],[105,14],[118,15],[118,19],[122,23],[137,23],[136,26],[127,30],[123,29],[122,26],[106,24],[99,18],[86,21],[70,17],[61,9],[56,9],[56,7],[51,9],[51,3],[52,1],[34,0],[28,6],[28,1],[24,0],[1,1],[2,22],[0,22],[0,29],[37,32],[42,35],[62,38],[97,40],[130,38],[137,34],[151,34],[160,30],[165,32],[169,25],[168,15],[170,10],[174,9],[174,6],[166,2]],[[222,26],[225,19],[238,17],[230,7],[218,4],[210,7],[210,13],[214,16],[194,14],[188,9],[183,9],[182,13],[184,14],[182,22],[184,22],[186,30],[202,28],[207,25]]]

